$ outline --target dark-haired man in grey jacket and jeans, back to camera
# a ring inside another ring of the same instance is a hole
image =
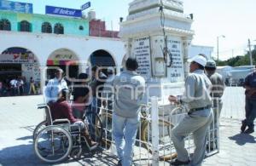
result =
[[[129,58],[125,66],[126,70],[113,80],[116,95],[113,103],[112,129],[119,165],[131,166],[145,80],[136,72],[138,68],[136,59]]]

